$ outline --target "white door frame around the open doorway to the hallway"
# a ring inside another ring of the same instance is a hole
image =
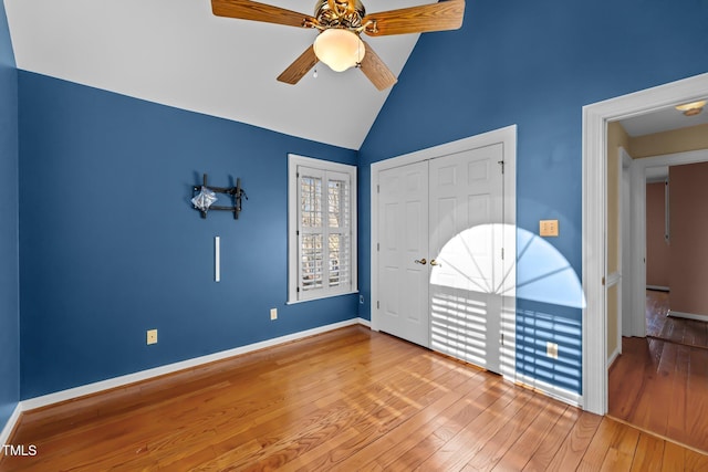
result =
[[[606,265],[607,123],[702,98],[708,73],[583,107],[583,408],[607,412]],[[638,279],[638,277],[634,277]],[[636,284],[636,281],[633,281]],[[636,286],[636,285],[633,285]],[[636,305],[635,305],[636,310]]]

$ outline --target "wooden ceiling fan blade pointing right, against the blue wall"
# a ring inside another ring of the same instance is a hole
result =
[[[457,30],[462,25],[464,17],[465,0],[446,0],[439,3],[367,14],[363,23],[373,22],[364,30],[366,34],[383,36]]]

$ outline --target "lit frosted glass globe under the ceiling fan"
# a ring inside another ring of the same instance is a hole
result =
[[[313,45],[317,59],[334,72],[344,72],[361,63],[366,51],[358,34],[339,28],[321,32]]]

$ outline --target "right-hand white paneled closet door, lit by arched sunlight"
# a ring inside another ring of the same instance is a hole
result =
[[[500,373],[503,148],[430,160],[430,347]]]

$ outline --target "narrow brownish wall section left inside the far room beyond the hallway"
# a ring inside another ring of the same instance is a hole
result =
[[[646,185],[646,284],[670,287],[670,247],[664,238],[665,187],[664,182]]]

